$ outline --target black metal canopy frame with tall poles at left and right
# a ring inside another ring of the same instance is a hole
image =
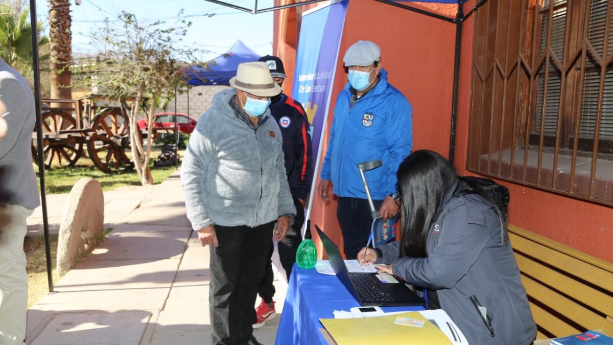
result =
[[[219,0],[204,0],[208,2],[213,2],[214,4],[218,4],[221,6],[230,7],[236,10],[242,10],[243,12],[248,12],[251,14],[260,14],[264,12],[270,12],[274,10],[281,9],[289,9],[291,7],[298,7],[302,5],[314,4],[316,2],[322,2],[326,0],[307,0],[296,2],[295,4],[287,4],[282,6],[273,6],[265,9],[257,9],[257,0],[254,0],[254,9],[248,9],[246,7],[236,6],[233,4],[229,4],[224,1]],[[408,6],[405,4],[400,4],[398,2],[394,2],[391,0],[375,0],[378,2],[383,2],[384,4],[388,4],[390,6],[398,7],[405,10],[410,10],[412,12],[416,12],[422,15],[427,15],[428,17],[437,18],[439,20],[447,21],[448,23],[455,24],[455,52],[454,52],[454,81],[453,81],[453,95],[452,95],[452,104],[451,104],[451,133],[449,138],[449,161],[454,163],[455,158],[455,130],[456,130],[456,120],[457,120],[457,103],[458,103],[458,91],[459,91],[459,83],[460,83],[460,53],[462,48],[462,23],[468,19],[479,7],[483,6],[487,0],[481,0],[476,4],[473,9],[470,10],[466,15],[463,12],[463,0],[458,0],[458,11],[455,15],[455,18],[446,17],[444,15],[436,14],[427,10],[419,9],[417,7]],[[41,129],[41,119],[40,119],[40,78],[39,78],[39,58],[38,58],[38,31],[36,25],[36,0],[30,0],[30,17],[32,21],[32,64],[34,65],[34,97],[36,98],[36,130],[37,130],[37,140],[38,150],[39,150],[39,176],[40,176],[40,195],[42,199],[42,212],[43,212],[43,227],[45,233],[45,250],[47,252],[47,277],[49,282],[49,292],[53,292],[53,279],[51,277],[51,250],[49,246],[49,225],[47,220],[47,200],[45,195],[45,169],[40,160],[42,160],[43,154],[42,150],[42,129]],[[177,97],[175,96],[175,103]],[[175,113],[176,105],[175,105]]]

